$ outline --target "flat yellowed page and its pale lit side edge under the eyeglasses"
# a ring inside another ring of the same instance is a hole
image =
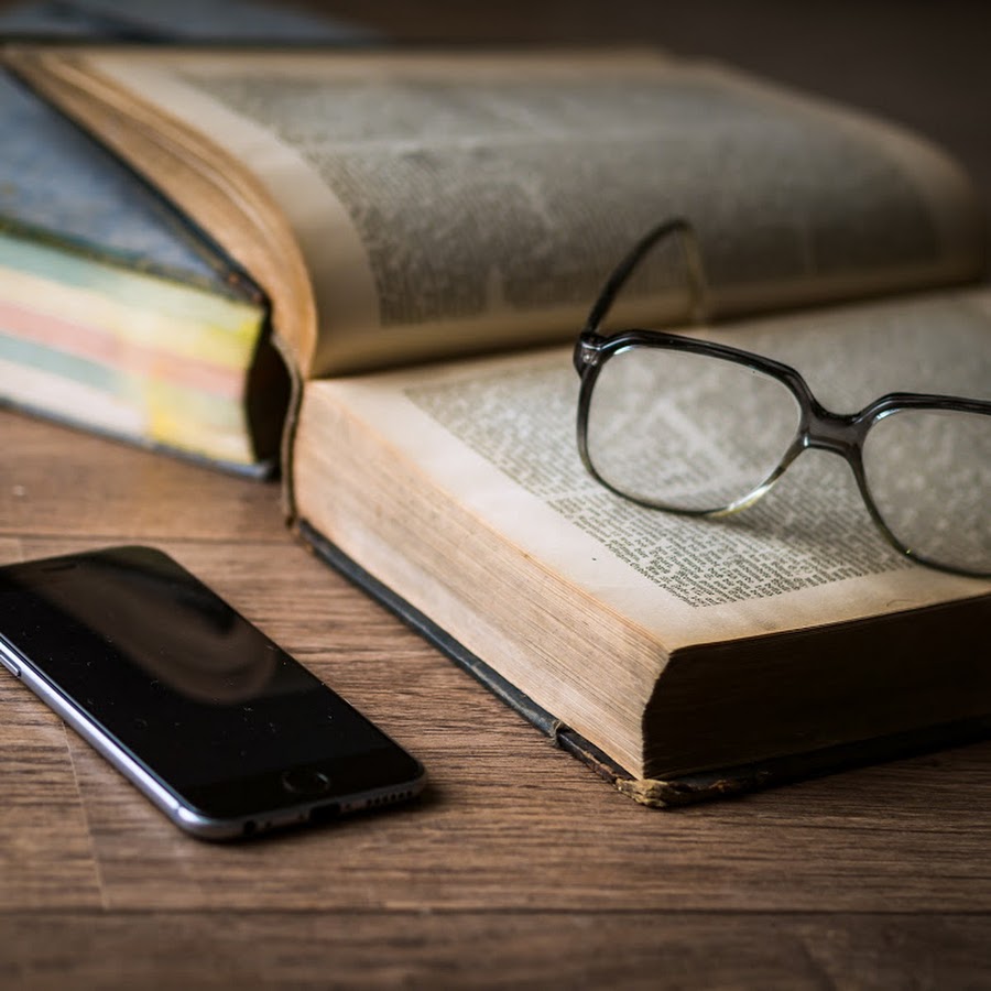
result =
[[[903,389],[991,398],[987,292],[704,333],[793,362],[836,412]],[[635,773],[675,651],[991,591],[891,548],[821,451],[725,520],[621,499],[580,464],[577,389],[568,349],[311,382],[297,512]]]

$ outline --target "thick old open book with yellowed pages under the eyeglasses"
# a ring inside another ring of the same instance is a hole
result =
[[[838,459],[722,521],[622,500],[579,461],[564,346],[680,215],[715,316],[694,333],[841,412],[991,396],[991,293],[959,287],[983,228],[938,150],[646,52],[11,64],[264,291],[298,531],[621,788],[679,802],[987,731],[991,582],[891,549]],[[625,295],[616,327],[688,318],[663,252]]]

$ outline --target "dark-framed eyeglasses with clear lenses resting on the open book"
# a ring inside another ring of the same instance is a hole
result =
[[[690,226],[651,230],[579,335],[578,450],[591,475],[653,509],[718,518],[760,499],[808,448],[847,459],[874,523],[919,564],[991,576],[991,401],[896,392],[825,409],[787,364],[660,330],[599,328],[643,258],[676,237],[694,316],[706,290]]]

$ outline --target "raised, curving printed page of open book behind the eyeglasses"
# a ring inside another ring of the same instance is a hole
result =
[[[974,200],[928,144],[705,64],[643,52],[72,59],[47,67],[116,87],[117,117],[90,126],[119,127],[124,92],[198,135],[186,167],[247,170],[277,205],[315,298],[312,340],[302,320],[279,329],[300,338],[308,375],[570,336],[612,265],[672,215],[696,227],[721,314],[981,268]],[[153,181],[199,217],[172,164]],[[248,230],[218,237],[277,312],[279,264],[259,266]],[[628,300],[628,319],[684,319],[678,259],[661,252]]]

